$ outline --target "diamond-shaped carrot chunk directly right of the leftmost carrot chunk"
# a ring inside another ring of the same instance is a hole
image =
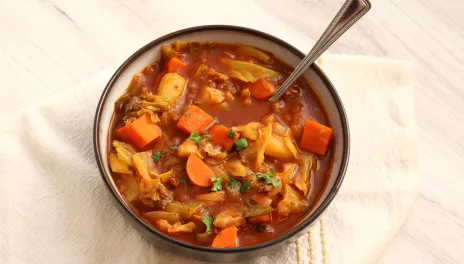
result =
[[[201,130],[207,128],[213,122],[214,118],[212,116],[208,115],[198,106],[192,105],[180,118],[177,128],[189,135],[192,132],[200,134]]]

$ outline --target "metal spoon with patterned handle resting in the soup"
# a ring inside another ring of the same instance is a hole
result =
[[[308,55],[298,64],[292,74],[288,76],[287,80],[277,89],[269,101],[275,102],[279,100],[290,85],[292,85],[292,83],[295,82],[324,51],[343,35],[343,33],[364,16],[369,9],[371,9],[369,0],[347,0]]]

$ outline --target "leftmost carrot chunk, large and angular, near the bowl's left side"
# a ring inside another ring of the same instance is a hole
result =
[[[129,125],[118,129],[117,133],[125,142],[143,149],[160,138],[161,129],[151,122],[150,116],[143,115]]]

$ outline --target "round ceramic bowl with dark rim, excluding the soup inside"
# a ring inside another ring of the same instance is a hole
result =
[[[220,259],[223,262],[240,261],[278,252],[279,249],[295,241],[299,235],[308,231],[309,227],[316,222],[332,202],[342,184],[349,158],[349,130],[347,117],[340,97],[327,76],[317,65],[313,64],[304,73],[304,77],[310,82],[311,87],[325,107],[327,117],[334,129],[335,134],[332,143],[334,144],[334,161],[332,174],[322,196],[316,206],[296,226],[273,240],[231,249],[202,247],[178,241],[149,226],[136,213],[129,209],[129,205],[124,201],[111,177],[107,161],[109,125],[115,101],[129,84],[132,75],[139,72],[144,66],[158,60],[163,44],[176,40],[248,44],[274,54],[292,67],[296,67],[304,57],[304,53],[279,38],[257,30],[236,26],[211,25],[187,28],[148,43],[130,56],[117,69],[103,90],[98,103],[93,128],[93,140],[95,156],[103,180],[113,195],[117,208],[125,219],[143,237],[160,248],[203,261]]]

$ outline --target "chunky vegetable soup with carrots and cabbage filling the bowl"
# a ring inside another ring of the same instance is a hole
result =
[[[201,246],[248,246],[303,219],[331,173],[333,131],[292,68],[251,46],[164,45],[115,104],[108,162],[144,221]]]

